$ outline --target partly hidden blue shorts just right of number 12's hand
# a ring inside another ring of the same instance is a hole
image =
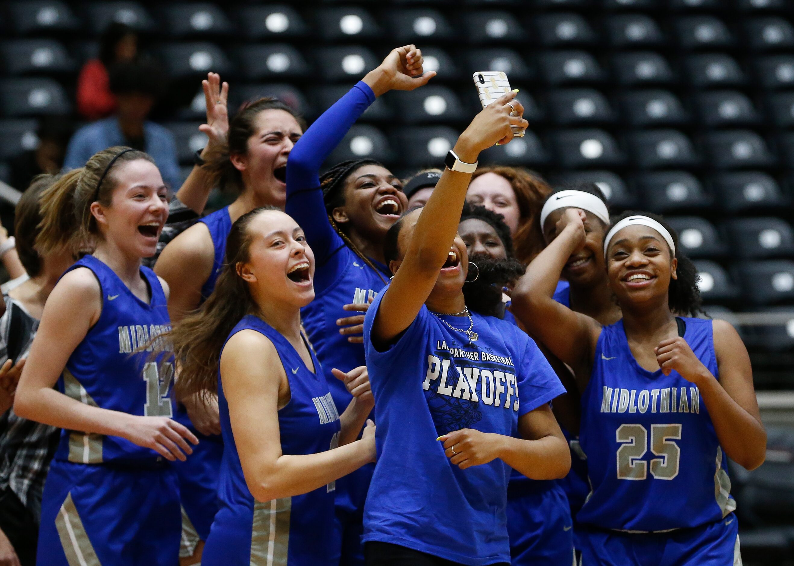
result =
[[[218,476],[221,472],[223,441],[218,435],[205,436],[188,427],[198,438],[187,460],[173,463],[179,478],[182,503],[182,544],[179,556],[193,556],[198,541],[210,536],[210,526],[218,511]]]

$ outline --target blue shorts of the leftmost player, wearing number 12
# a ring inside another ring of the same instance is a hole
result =
[[[174,566],[179,485],[161,462],[134,468],[53,460],[44,485],[39,566]]]

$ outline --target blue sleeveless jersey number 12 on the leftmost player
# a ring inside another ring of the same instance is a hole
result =
[[[141,267],[151,295],[147,304],[94,256],[84,256],[66,272],[77,268],[91,269],[98,279],[102,314],[71,352],[58,379],[58,390],[71,399],[102,409],[141,416],[172,416],[172,366],[158,368],[147,360],[148,352],[135,352],[151,337],[171,329],[168,304],[157,275]],[[151,346],[148,349],[151,351]],[[161,458],[154,450],[121,437],[65,429],[55,457],[82,464]]]

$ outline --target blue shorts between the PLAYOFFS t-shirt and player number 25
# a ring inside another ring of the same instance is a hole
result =
[[[573,522],[557,482],[520,482],[508,488],[507,533],[512,566],[573,564]]]

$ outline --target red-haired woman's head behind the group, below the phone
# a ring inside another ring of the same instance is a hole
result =
[[[522,167],[480,167],[472,175],[466,200],[504,217],[515,244],[515,257],[526,265],[543,248],[543,238],[535,232],[533,221],[550,192],[551,187],[540,175]]]

